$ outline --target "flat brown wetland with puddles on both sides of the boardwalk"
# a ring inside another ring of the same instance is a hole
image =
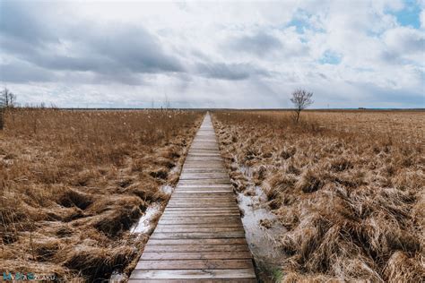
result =
[[[0,270],[126,280],[203,116],[8,109]],[[212,122],[260,281],[425,280],[424,111],[308,110],[296,124],[291,111],[216,110]]]

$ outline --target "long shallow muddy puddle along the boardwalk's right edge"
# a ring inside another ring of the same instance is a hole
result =
[[[251,176],[249,167],[239,167],[240,171]],[[273,282],[273,273],[280,270],[285,255],[277,246],[276,236],[286,231],[274,220],[277,218],[263,205],[267,197],[259,186],[251,185],[244,193],[238,193],[239,209],[244,211],[242,223],[245,228],[249,250],[256,261],[256,269],[262,282]]]

